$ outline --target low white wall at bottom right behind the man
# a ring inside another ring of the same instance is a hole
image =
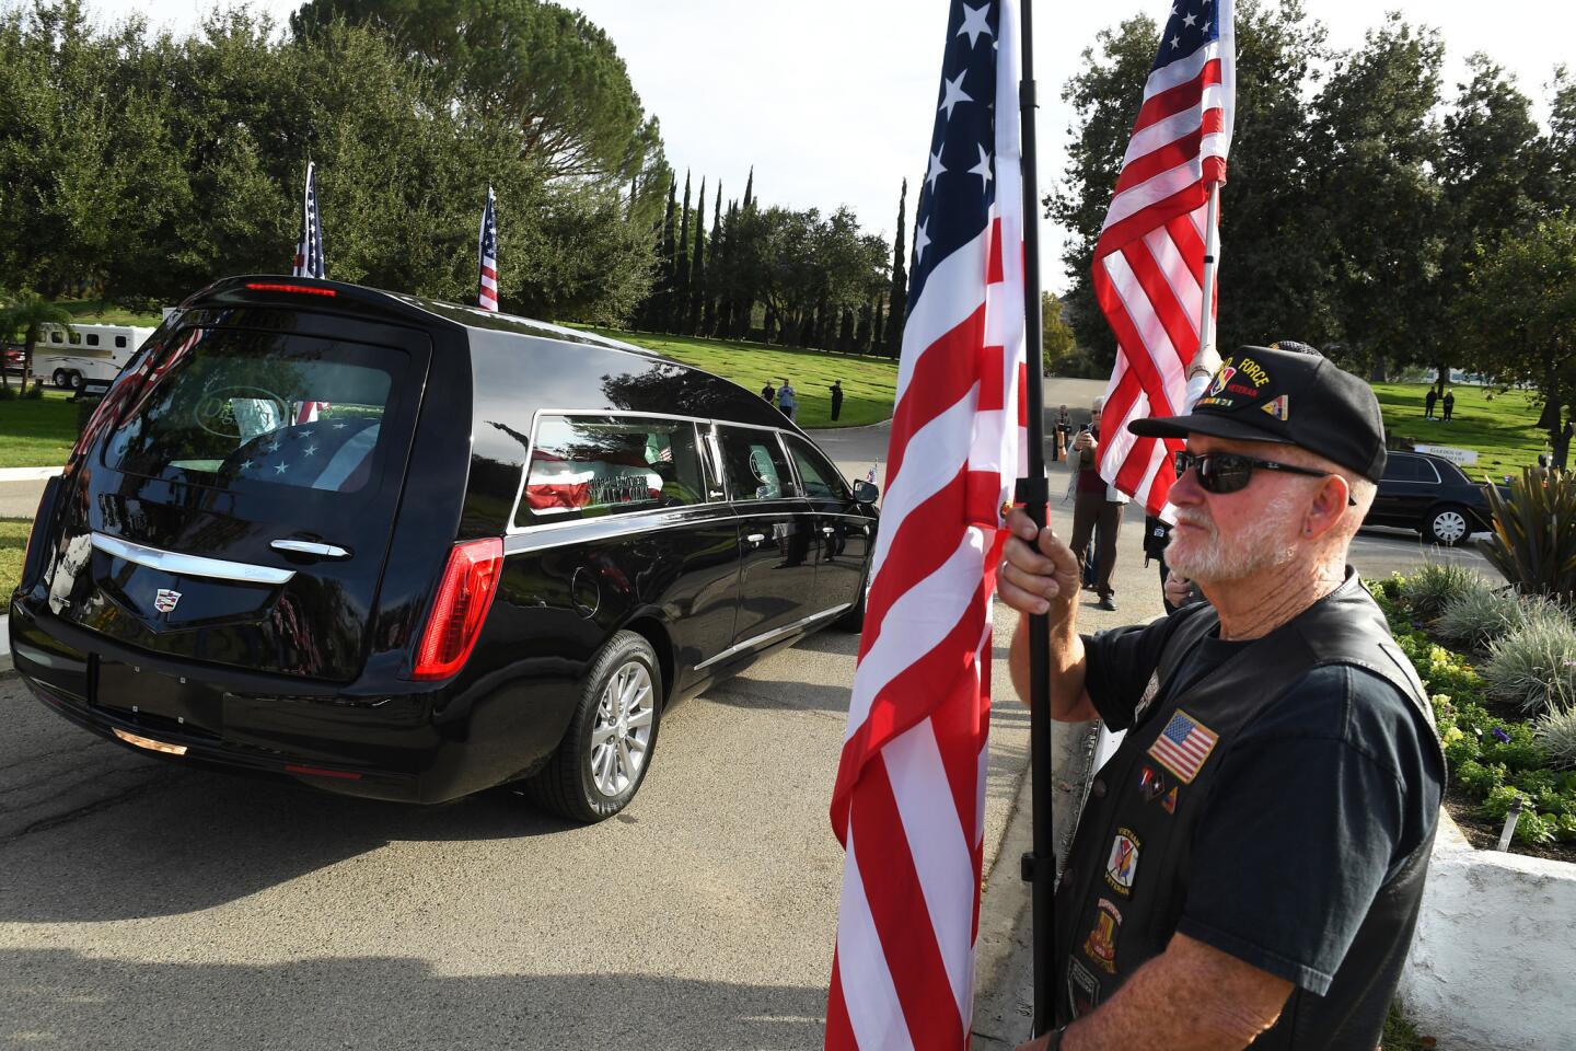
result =
[[[1440,813],[1399,994],[1447,1051],[1576,1048],[1576,865],[1474,849]]]

